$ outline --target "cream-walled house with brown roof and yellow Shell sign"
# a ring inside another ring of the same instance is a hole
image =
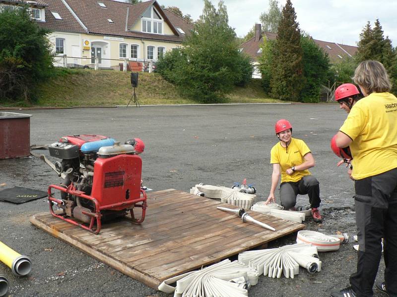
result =
[[[61,66],[117,68],[121,60],[156,61],[181,45],[193,25],[156,0],[130,4],[115,0],[0,0],[0,8],[28,4],[49,35]]]

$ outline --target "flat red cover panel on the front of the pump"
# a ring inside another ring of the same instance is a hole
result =
[[[97,158],[91,196],[101,207],[140,197],[142,160],[138,155],[121,154],[111,158]],[[125,209],[120,206],[114,210]]]

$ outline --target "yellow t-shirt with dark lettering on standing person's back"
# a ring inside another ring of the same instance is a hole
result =
[[[397,98],[393,94],[372,93],[360,99],[339,130],[353,140],[354,179],[397,168]]]

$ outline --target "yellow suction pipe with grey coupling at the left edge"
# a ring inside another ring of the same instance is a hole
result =
[[[2,242],[0,242],[0,261],[11,268],[12,273],[16,276],[27,275],[32,270],[29,257],[17,253]]]

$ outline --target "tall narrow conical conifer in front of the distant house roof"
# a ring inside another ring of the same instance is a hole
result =
[[[291,0],[287,0],[278,26],[270,80],[271,95],[278,99],[300,99],[304,84],[300,38],[295,9]]]

